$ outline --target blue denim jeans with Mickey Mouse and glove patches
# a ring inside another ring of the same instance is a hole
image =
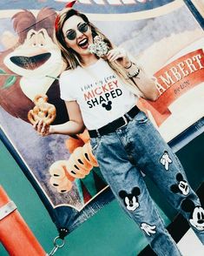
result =
[[[157,255],[181,255],[148,193],[144,172],[188,219],[204,244],[204,210],[179,159],[144,112],[130,119],[115,132],[91,138],[93,153],[115,198],[140,226]]]

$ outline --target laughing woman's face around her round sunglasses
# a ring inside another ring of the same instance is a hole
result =
[[[89,44],[93,44],[92,32],[88,25],[88,30],[82,30],[82,27],[85,24],[82,17],[76,15],[69,17],[63,25],[63,36],[67,45],[76,51],[78,54],[83,56],[91,55],[89,52]],[[76,34],[76,37],[71,40],[69,39],[70,34]]]

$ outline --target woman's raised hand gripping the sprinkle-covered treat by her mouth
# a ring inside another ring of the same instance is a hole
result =
[[[120,47],[110,50],[107,57],[110,62],[117,61],[119,64],[122,64],[124,68],[127,68],[131,64],[127,51]]]

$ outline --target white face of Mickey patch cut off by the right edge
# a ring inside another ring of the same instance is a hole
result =
[[[204,231],[204,210],[201,206],[196,206],[192,214],[192,219],[189,219],[190,224],[199,231]]]

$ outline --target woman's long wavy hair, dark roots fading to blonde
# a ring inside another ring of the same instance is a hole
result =
[[[72,9],[72,8],[65,8],[63,9],[56,17],[56,44],[61,49],[63,61],[66,64],[66,70],[74,70],[78,65],[82,66],[83,61],[80,54],[78,54],[76,51],[74,51],[72,48],[69,48],[67,46],[67,43],[65,42],[65,38],[63,36],[63,24],[66,22],[66,20],[69,19],[69,17],[72,16],[78,16],[81,17],[82,20],[89,24],[89,28],[92,32],[92,37],[101,36],[103,38],[103,41],[108,44],[109,50],[114,48],[114,45],[110,42],[109,38],[106,37],[100,30],[98,30],[94,24],[89,22],[89,18],[84,15],[83,13],[79,12],[78,10]],[[96,56],[97,57],[97,56]],[[98,57],[97,57],[98,58]],[[107,57],[102,57],[105,61],[108,62],[109,66],[116,72],[116,74],[122,78],[122,80],[128,84],[129,89],[133,91],[138,96],[141,96],[141,91],[136,88],[136,84],[133,80],[129,79],[127,76],[127,71],[122,67],[121,64],[118,62],[109,62],[109,59]]]

